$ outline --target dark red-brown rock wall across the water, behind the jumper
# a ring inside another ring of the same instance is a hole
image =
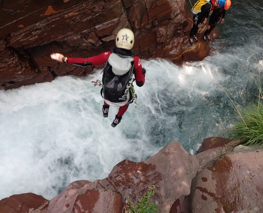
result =
[[[115,46],[123,27],[134,31],[134,54],[141,58],[180,64],[209,53],[204,42],[189,45],[185,0],[2,0],[0,19],[0,89],[91,73],[92,67],[59,64],[49,55],[99,54]]]

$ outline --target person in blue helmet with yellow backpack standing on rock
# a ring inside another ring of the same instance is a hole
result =
[[[223,7],[224,4],[225,0],[199,0],[194,4],[192,12],[195,15],[193,16],[193,27],[190,31],[189,37],[189,42],[191,45],[193,45],[194,43],[193,40],[195,40],[195,42],[198,42],[198,39],[196,37],[198,29],[202,23],[206,23],[209,12],[213,10],[214,7],[219,7],[218,5],[222,5]]]

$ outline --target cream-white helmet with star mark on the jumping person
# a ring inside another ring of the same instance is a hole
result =
[[[116,36],[116,47],[131,50],[134,44],[133,31],[127,28],[121,29]]]

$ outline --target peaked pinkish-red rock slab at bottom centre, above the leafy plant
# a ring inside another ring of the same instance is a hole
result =
[[[190,194],[190,182],[198,168],[196,157],[175,141],[144,162],[118,163],[108,178],[97,182],[96,189],[111,189],[119,192],[124,201],[135,202],[149,190],[148,186],[154,185],[154,200],[160,212],[169,212],[176,199]]]

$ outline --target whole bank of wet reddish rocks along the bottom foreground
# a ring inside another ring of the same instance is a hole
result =
[[[160,212],[263,212],[262,147],[224,143],[229,149],[191,155],[172,142],[146,161],[118,163],[103,180],[75,181],[50,201],[33,193],[4,198],[0,212],[124,212],[127,200],[136,203],[151,185]]]

